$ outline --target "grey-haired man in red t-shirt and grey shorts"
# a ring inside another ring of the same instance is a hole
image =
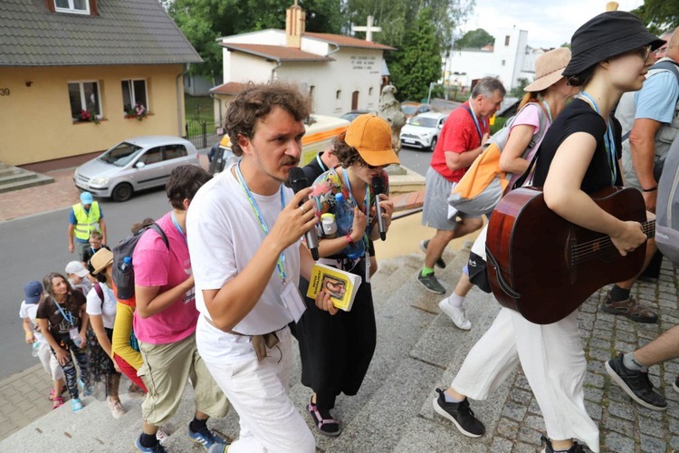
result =
[[[472,90],[469,101],[451,112],[445,120],[429,169],[426,172],[425,206],[422,224],[436,229],[434,237],[423,241],[425,265],[417,273],[417,282],[427,291],[445,294],[445,288],[434,275],[434,265],[445,267],[441,255],[455,237],[461,237],[483,226],[482,217],[468,217],[462,212],[448,213],[448,196],[483,151],[490,138],[489,119],[500,109],[505,90],[502,82],[485,77]],[[464,323],[462,303],[453,307],[454,318]],[[455,322],[457,323],[457,322]]]

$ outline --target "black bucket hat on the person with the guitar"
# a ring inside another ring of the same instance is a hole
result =
[[[572,56],[563,75],[576,75],[608,58],[644,45],[655,50],[665,41],[648,33],[641,19],[626,11],[598,14],[582,25],[570,40]]]

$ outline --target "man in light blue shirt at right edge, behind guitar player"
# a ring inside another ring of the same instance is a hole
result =
[[[654,213],[657,181],[667,150],[679,132],[679,31],[674,30],[669,37],[663,34],[663,39],[669,40],[665,56],[648,70],[641,90],[623,94],[616,110],[622,126],[624,184],[641,190],[646,210]],[[656,250],[655,241],[649,240],[645,269]],[[636,277],[614,284],[601,310],[622,314],[637,323],[657,323],[657,314],[639,305],[630,294],[635,282]]]

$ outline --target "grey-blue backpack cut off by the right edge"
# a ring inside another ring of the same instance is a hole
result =
[[[655,205],[655,244],[679,265],[679,137],[667,151]]]

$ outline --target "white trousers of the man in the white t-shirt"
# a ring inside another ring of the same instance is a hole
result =
[[[280,342],[262,361],[234,363],[204,361],[217,385],[240,417],[239,438],[229,453],[269,451],[314,453],[316,440],[288,397],[292,342],[290,330],[278,333]]]

